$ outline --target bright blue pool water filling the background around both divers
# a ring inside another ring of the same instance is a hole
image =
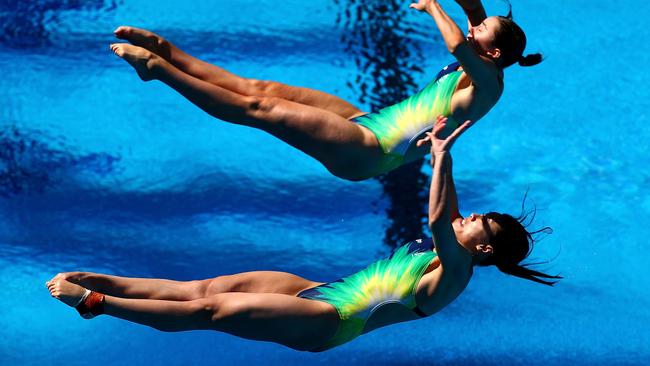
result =
[[[376,76],[348,47],[362,43],[346,12],[358,7],[0,2],[0,364],[646,363],[650,5],[641,0],[514,1],[528,50],[547,59],[509,69],[500,103],[454,148],[463,213],[519,213],[529,189],[534,225],[554,229],[533,259],[554,258],[542,269],[565,277],[555,288],[480,269],[439,314],[322,354],[84,321],[49,297],[43,284],[60,271],[188,280],[266,269],[326,281],[387,254],[385,230],[399,219],[387,212],[400,202],[380,181],[336,179],[262,132],[142,83],[108,50],[117,25],[137,25],[234,73],[370,109],[376,91],[359,84]],[[423,70],[407,76],[424,85],[450,57],[426,16],[395,19],[413,30],[391,34]]]

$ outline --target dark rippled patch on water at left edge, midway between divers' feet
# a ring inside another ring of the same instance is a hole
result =
[[[54,147],[57,144],[62,146]],[[115,171],[120,160],[106,153],[75,155],[71,150],[65,142],[38,131],[19,130],[12,125],[3,128],[0,130],[0,197],[41,193],[70,173],[104,177]]]

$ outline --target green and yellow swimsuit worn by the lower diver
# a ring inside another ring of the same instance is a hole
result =
[[[307,289],[298,297],[324,301],[336,308],[339,327],[320,350],[349,342],[364,331],[370,316],[386,304],[401,304],[426,316],[415,302],[415,291],[436,257],[431,239],[415,240],[397,248],[386,259],[338,281]]]

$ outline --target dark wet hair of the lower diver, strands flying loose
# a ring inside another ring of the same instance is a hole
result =
[[[533,218],[535,217],[534,212]],[[489,212],[485,215],[494,220],[501,229],[490,238],[489,244],[494,248],[494,252],[481,261],[479,266],[494,265],[503,273],[552,286],[557,281],[548,281],[542,278],[561,279],[562,277],[547,275],[528,268],[539,263],[521,263],[533,251],[534,235],[538,233],[550,234],[553,231],[550,227],[528,231],[526,226],[532,221],[532,219],[528,220],[529,215],[530,213],[522,213],[517,218],[498,212]],[[525,225],[526,221],[528,224]]]

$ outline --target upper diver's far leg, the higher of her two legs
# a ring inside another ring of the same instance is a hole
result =
[[[364,114],[354,105],[332,94],[289,86],[274,81],[246,79],[237,76],[221,67],[201,61],[185,53],[163,37],[145,29],[121,26],[115,30],[115,36],[163,57],[179,70],[195,78],[241,95],[287,99],[328,110],[345,119]]]

